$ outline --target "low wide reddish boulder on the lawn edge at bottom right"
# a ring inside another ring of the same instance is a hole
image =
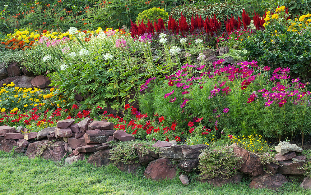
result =
[[[250,188],[268,188],[275,189],[282,187],[282,184],[288,183],[286,177],[280,173],[276,175],[270,175],[265,173],[264,175],[258,175],[253,177],[253,180],[249,184]]]

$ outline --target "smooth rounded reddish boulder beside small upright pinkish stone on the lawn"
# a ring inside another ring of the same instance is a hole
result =
[[[151,161],[145,170],[145,177],[153,180],[173,179],[178,173],[177,166],[165,158]]]

